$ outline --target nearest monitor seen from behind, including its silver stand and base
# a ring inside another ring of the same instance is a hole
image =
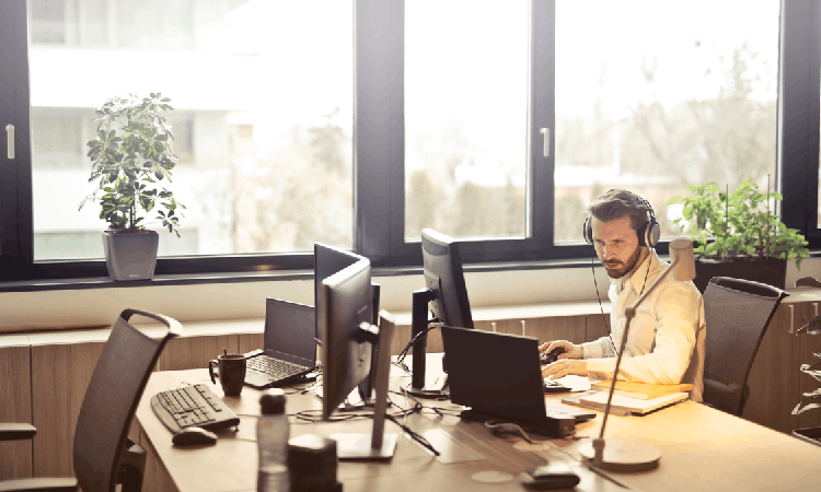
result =
[[[324,343],[322,364],[322,417],[329,419],[345,398],[371,368],[371,348],[379,342],[391,345],[393,323],[382,312],[380,328],[373,319],[371,266],[367,258],[332,274],[320,285],[317,319]],[[396,434],[384,434],[388,401],[390,351],[381,351],[377,365],[377,391],[373,432],[368,434],[335,434],[340,459],[386,459],[393,456]]]

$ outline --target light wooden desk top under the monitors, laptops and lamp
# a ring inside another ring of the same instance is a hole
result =
[[[429,356],[437,354],[430,354]],[[437,366],[429,363],[428,367]],[[407,378],[392,378],[396,387]],[[239,432],[219,433],[216,446],[175,448],[171,433],[153,414],[149,399],[164,389],[181,384],[207,383],[211,385],[206,370],[153,373],[144,396],[137,409],[141,425],[143,447],[163,464],[169,476],[181,492],[188,491],[255,491],[256,443],[255,418],[258,414],[258,395],[245,387],[239,397],[223,397],[235,413],[240,414]],[[222,396],[219,385],[211,385]],[[546,396],[550,405],[562,405],[560,396]],[[404,397],[392,395],[403,405]],[[425,402],[440,408],[456,409],[450,402]],[[320,400],[313,393],[289,395],[287,412],[319,409]],[[439,418],[432,414],[414,414],[406,421],[417,431],[437,430],[452,438],[452,449],[465,454],[477,454],[473,460],[443,464],[410,438],[400,438],[396,453],[389,462],[340,461],[338,480],[345,492],[355,491],[438,491],[470,490],[522,491],[516,478],[525,469],[544,462],[568,461],[581,477],[577,490],[623,491],[605,479],[582,468],[565,454],[555,450],[524,452],[514,447],[517,437],[496,437],[476,422],[461,422],[456,417]],[[329,435],[335,432],[370,432],[372,421],[302,423],[291,418],[291,436],[303,433]],[[598,435],[601,414],[577,426],[577,435]],[[386,432],[402,433],[392,422],[386,422]],[[441,434],[441,435],[446,435]],[[659,468],[639,473],[609,473],[620,482],[641,491],[817,491],[821,488],[821,447],[805,443],[747,422],[742,419],[685,401],[644,417],[615,417],[608,421],[606,437],[623,438],[658,447],[662,452]],[[541,440],[540,436],[534,438]],[[552,441],[563,450],[580,458],[576,452],[581,441]],[[440,449],[444,450],[444,449]],[[513,476],[506,483],[479,483],[473,476],[481,471],[500,471]]]

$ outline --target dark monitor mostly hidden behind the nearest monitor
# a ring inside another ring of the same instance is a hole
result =
[[[365,259],[363,256],[357,255],[356,253],[348,251],[346,249],[340,249],[334,246],[328,246],[326,244],[322,243],[314,243],[313,245],[313,258],[314,258],[314,306],[320,305],[320,289],[322,286],[322,281],[327,279],[328,277],[333,276],[334,273],[337,273],[342,270],[344,270],[347,267],[350,267],[351,265],[356,263],[357,261],[360,261]],[[378,283],[373,283],[371,281],[371,288],[373,289],[373,305],[372,305],[372,313],[373,313],[373,319],[371,323],[373,325],[378,325],[378,314],[379,314],[379,294],[380,294],[380,286]],[[323,340],[323,335],[320,330],[320,319],[316,318],[316,340],[322,344],[325,341]],[[320,349],[322,351],[322,349]],[[371,359],[377,359],[377,352],[379,351],[379,344],[373,343],[373,351],[371,353]],[[373,387],[375,385],[377,380],[377,372],[375,370],[371,370],[371,374],[369,377],[362,380],[362,383],[359,385],[359,396],[362,399],[362,405],[370,407],[373,405]]]

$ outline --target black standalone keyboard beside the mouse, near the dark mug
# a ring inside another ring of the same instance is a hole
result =
[[[203,384],[158,393],[151,397],[151,410],[174,434],[192,426],[213,430],[240,424],[240,418]]]

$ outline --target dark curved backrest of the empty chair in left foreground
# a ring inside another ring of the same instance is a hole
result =
[[[169,330],[152,339],[128,324],[138,314],[161,321]],[[74,473],[84,492],[116,488],[120,457],[137,405],[167,340],[182,326],[166,316],[124,311],[112,328],[85,389],[74,433]]]

